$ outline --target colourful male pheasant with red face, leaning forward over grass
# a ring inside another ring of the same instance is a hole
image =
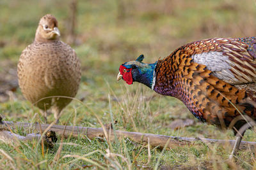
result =
[[[195,41],[153,64],[143,58],[122,64],[117,80],[177,97],[202,122],[233,127],[232,158],[245,130],[237,131],[256,120],[256,37]]]

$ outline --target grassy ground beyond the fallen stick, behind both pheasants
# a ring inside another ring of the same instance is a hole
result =
[[[116,74],[120,64],[140,54],[145,55],[144,62],[155,62],[191,41],[255,36],[256,1],[1,0],[0,114],[4,120],[44,120],[38,109],[22,97],[16,69],[20,53],[33,42],[38,22],[47,13],[57,18],[61,40],[76,50],[83,70],[77,99],[86,107],[73,101],[64,110],[61,124],[100,127],[92,112],[108,123],[113,111],[117,129],[124,131],[234,139],[230,131],[200,124],[173,97],[159,96],[138,83],[116,83]],[[52,115],[49,118],[53,120]],[[170,129],[168,125],[177,118],[191,118],[196,123],[178,131]],[[246,134],[245,140],[255,141],[252,131]],[[246,159],[250,159],[248,154]],[[141,161],[147,162],[147,158]]]

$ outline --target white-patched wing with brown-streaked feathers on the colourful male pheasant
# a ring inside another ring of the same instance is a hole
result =
[[[232,85],[256,80],[255,38],[213,38],[184,47],[193,62],[204,64],[212,75]],[[192,51],[192,52],[191,52]]]

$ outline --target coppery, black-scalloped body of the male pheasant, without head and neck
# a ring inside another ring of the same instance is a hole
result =
[[[256,62],[247,48],[246,43],[231,38],[205,39],[182,46],[157,62],[154,90],[177,97],[203,122],[227,127],[240,115],[239,111],[255,120],[255,108],[248,107],[246,101],[256,101]],[[198,57],[201,54],[220,54],[223,61],[216,63],[225,67],[227,62],[227,69],[218,70],[212,57],[207,62]]]

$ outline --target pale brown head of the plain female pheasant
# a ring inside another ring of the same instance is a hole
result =
[[[40,19],[36,29],[36,41],[51,41],[60,38],[60,31],[58,29],[58,21],[56,18],[47,14]]]

